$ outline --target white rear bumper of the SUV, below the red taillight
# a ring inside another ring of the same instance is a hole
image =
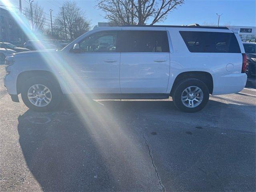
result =
[[[246,85],[246,80],[247,75],[245,73],[214,77],[212,95],[240,92]]]

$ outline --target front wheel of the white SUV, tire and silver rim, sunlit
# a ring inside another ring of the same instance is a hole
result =
[[[36,111],[54,109],[61,100],[58,86],[43,77],[30,78],[22,87],[21,97],[24,104]]]

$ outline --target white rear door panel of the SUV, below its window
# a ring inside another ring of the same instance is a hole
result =
[[[121,92],[166,93],[169,58],[169,53],[121,53]]]

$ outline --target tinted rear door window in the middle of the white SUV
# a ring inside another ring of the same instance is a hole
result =
[[[166,31],[122,31],[121,52],[169,52]]]

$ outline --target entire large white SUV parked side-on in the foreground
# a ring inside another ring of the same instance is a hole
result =
[[[99,50],[102,42],[112,49]],[[4,85],[15,102],[46,111],[62,94],[91,98],[164,99],[185,112],[204,108],[209,94],[241,91],[246,54],[226,27],[122,26],[96,28],[61,51],[6,58]],[[28,62],[29,61],[29,62]]]

